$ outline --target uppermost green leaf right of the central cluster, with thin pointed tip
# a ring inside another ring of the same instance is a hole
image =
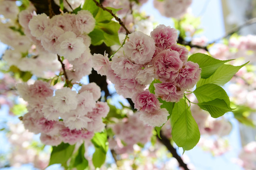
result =
[[[202,54],[202,53],[193,54],[188,58],[188,61],[197,63],[201,68],[201,78],[208,78],[216,71],[217,68],[219,68],[224,63],[231,60],[233,59],[229,59],[229,60],[214,59],[209,55]]]

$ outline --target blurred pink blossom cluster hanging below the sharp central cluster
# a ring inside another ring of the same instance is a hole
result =
[[[139,114],[128,116],[112,128],[115,133],[115,140],[110,139],[110,147],[118,154],[132,152],[134,144],[146,144],[150,140],[153,128],[144,125],[138,116]]]

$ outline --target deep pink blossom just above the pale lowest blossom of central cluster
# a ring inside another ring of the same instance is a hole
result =
[[[160,109],[160,102],[155,94],[150,93],[148,90],[134,94],[132,96],[132,101],[137,110],[152,112],[153,110]]]

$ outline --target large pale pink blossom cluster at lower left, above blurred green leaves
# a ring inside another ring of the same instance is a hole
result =
[[[102,118],[109,112],[106,102],[96,102],[101,89],[95,83],[82,85],[79,93],[64,87],[55,91],[43,81],[17,85],[20,97],[28,102],[28,113],[22,119],[30,132],[41,133],[44,144],[75,144],[101,132]]]

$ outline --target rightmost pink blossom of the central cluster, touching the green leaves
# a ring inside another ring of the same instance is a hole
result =
[[[199,68],[199,65],[192,61],[187,61],[181,68],[181,71],[176,78],[176,82],[182,89],[186,90],[192,88],[200,78],[201,68]]]

